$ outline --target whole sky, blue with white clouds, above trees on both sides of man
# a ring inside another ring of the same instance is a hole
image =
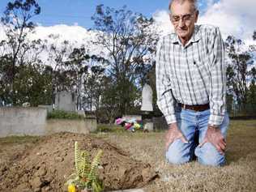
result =
[[[7,2],[9,1],[0,0],[0,15],[5,10]],[[93,28],[91,17],[99,4],[115,9],[126,5],[131,11],[156,19],[166,32],[172,30],[168,15],[169,0],[37,0],[37,2],[41,6],[41,14],[36,15],[33,21],[44,28],[43,32],[47,30],[66,32],[66,36],[72,37],[75,30],[87,31]],[[253,42],[252,34],[256,30],[255,7],[256,0],[198,0],[200,12],[198,23],[218,26],[224,38],[233,35],[250,44]]]

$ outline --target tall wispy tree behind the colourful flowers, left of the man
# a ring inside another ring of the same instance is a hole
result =
[[[92,20],[100,31],[95,43],[109,55],[107,75],[113,82],[116,110],[129,113],[138,99],[139,66],[151,64],[147,56],[156,46],[157,36],[151,32],[153,19],[128,11],[126,6],[114,10],[99,5]]]

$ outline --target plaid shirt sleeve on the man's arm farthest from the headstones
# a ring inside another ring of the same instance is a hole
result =
[[[224,120],[226,110],[226,65],[224,42],[220,29],[215,28],[209,42],[210,53],[210,117],[209,124],[220,126]]]

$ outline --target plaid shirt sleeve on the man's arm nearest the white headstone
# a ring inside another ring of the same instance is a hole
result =
[[[168,124],[177,122],[174,109],[174,99],[172,89],[170,87],[170,79],[166,72],[166,62],[164,57],[163,40],[159,41],[156,49],[156,92],[157,105],[164,114]]]

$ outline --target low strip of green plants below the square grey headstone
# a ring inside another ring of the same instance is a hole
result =
[[[84,117],[75,112],[53,110],[47,114],[47,119],[84,119]]]

